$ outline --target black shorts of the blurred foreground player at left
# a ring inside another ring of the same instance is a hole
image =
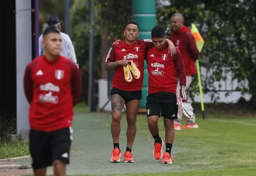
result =
[[[72,128],[63,128],[52,132],[30,130],[29,150],[32,168],[46,168],[59,160],[69,164],[69,150],[73,139]]]

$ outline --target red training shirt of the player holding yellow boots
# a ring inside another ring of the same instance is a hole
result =
[[[122,59],[132,60],[140,70],[139,79],[133,78],[132,82],[127,82],[124,79],[123,66],[116,67],[112,87],[124,91],[138,91],[142,89],[145,52],[151,47],[153,47],[153,43],[150,39],[136,40],[132,45],[128,45],[125,41],[121,41],[119,45],[112,45],[105,62],[115,62]]]

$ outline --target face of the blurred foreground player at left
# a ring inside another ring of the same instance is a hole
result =
[[[42,41],[45,51],[53,56],[59,56],[62,49],[62,39],[59,33],[49,33]]]

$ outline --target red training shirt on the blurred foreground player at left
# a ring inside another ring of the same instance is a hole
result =
[[[73,107],[81,94],[81,75],[73,61],[40,56],[27,64],[24,91],[30,104],[30,128],[55,131],[72,126]]]

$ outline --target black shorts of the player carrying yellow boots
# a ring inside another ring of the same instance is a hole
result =
[[[128,103],[129,101],[132,101],[133,99],[142,99],[142,90],[138,91],[125,91],[121,89],[117,89],[115,87],[111,88],[110,94],[119,94],[120,97],[122,97],[125,101],[125,103]]]

